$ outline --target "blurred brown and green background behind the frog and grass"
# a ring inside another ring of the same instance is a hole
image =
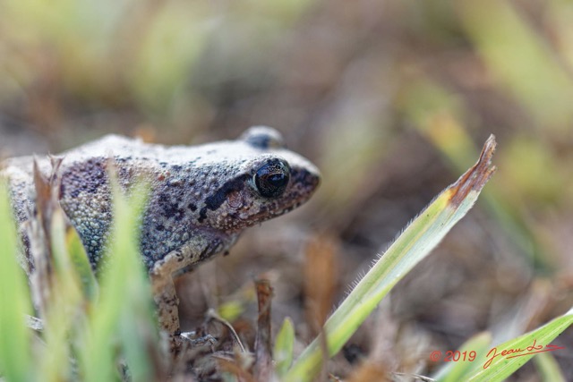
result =
[[[474,210],[329,365],[428,375],[432,350],[573,305],[571,20],[565,0],[0,0],[1,153],[276,127],[321,190],[178,287],[184,326],[219,307],[248,342],[264,273],[275,327],[292,317],[301,347],[494,133],[498,172]],[[573,379],[573,329],[555,344]],[[541,380],[535,362],[514,380]]]

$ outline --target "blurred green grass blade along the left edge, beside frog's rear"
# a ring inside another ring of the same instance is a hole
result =
[[[0,179],[0,376],[6,381],[33,379],[30,329],[24,315],[31,312],[24,272],[16,260],[17,238],[8,199]]]

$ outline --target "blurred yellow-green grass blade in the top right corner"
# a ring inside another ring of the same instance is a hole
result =
[[[460,15],[484,63],[543,129],[569,129],[573,81],[515,4],[460,2]],[[565,130],[562,130],[565,132]]]

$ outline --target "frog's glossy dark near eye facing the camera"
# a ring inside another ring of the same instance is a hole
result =
[[[290,168],[286,161],[278,158],[267,160],[253,175],[257,191],[264,198],[278,198],[289,180]]]

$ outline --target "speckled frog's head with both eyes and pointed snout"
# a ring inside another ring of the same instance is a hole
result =
[[[274,129],[252,127],[235,144],[243,151],[240,165],[200,210],[200,222],[213,228],[240,232],[283,215],[310,199],[320,183],[318,169],[286,149]]]

